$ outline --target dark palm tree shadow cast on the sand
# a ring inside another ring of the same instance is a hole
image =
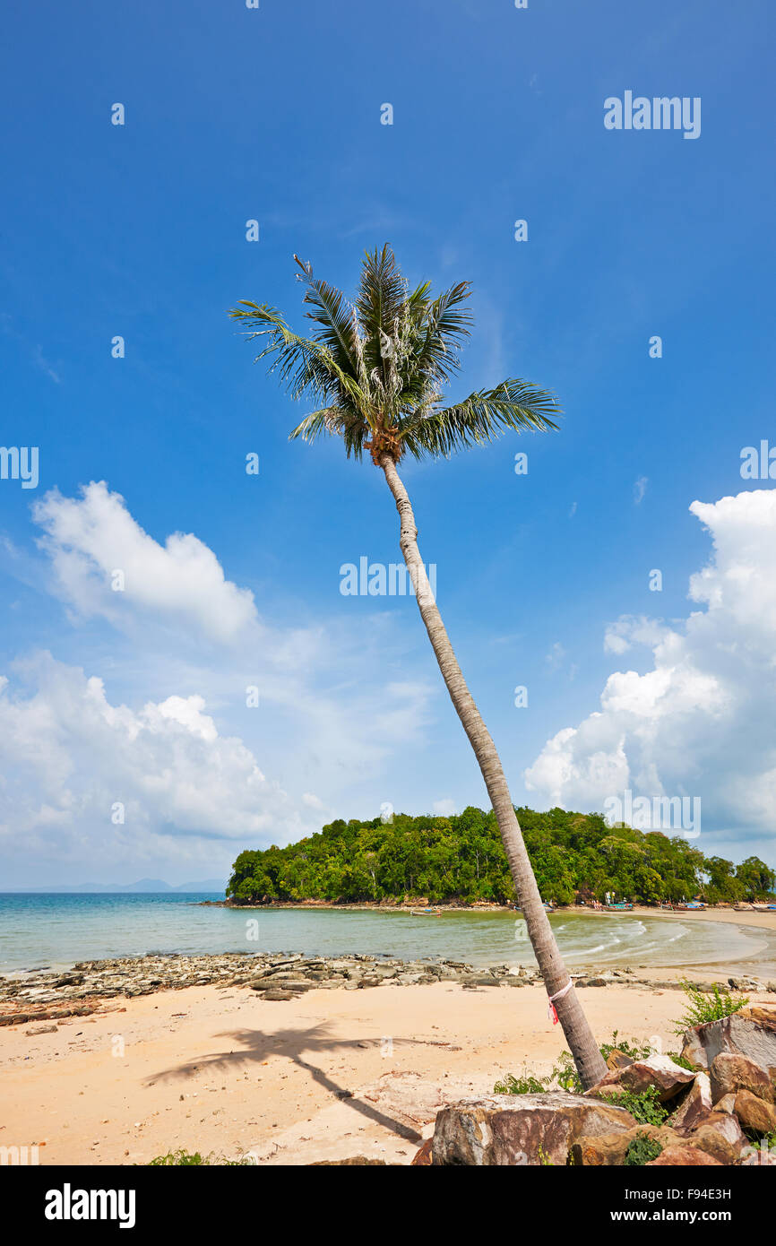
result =
[[[233,1043],[239,1043],[239,1049],[213,1052],[196,1060],[187,1060],[176,1068],[164,1069],[146,1078],[146,1083],[152,1085],[154,1082],[184,1079],[199,1073],[225,1073],[229,1069],[245,1064],[245,1062],[263,1064],[270,1055],[284,1055],[298,1068],[304,1069],[319,1087],[328,1090],[336,1099],[346,1103],[349,1108],[369,1119],[372,1124],[389,1129],[406,1141],[422,1143],[422,1136],[416,1129],[396,1120],[394,1116],[386,1115],[371,1103],[359,1099],[351,1090],[339,1085],[339,1083],[310,1059],[305,1059],[305,1057],[314,1057],[316,1053],[348,1052],[364,1047],[364,1039],[335,1038],[328,1033],[328,1023],[321,1022],[319,1025],[311,1025],[308,1029],[282,1029],[274,1034],[267,1034],[258,1029],[237,1029],[217,1034],[217,1038],[225,1038]],[[394,1045],[415,1045],[417,1039],[394,1038],[391,1042]],[[375,1045],[377,1045],[377,1040],[375,1040]]]

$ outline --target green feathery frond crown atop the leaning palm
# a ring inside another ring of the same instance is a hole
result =
[[[294,259],[306,287],[306,315],[318,326],[311,338],[295,334],[267,304],[242,302],[229,310],[249,326],[249,341],[265,339],[257,360],[272,356],[269,370],[279,370],[291,396],[319,404],[291,439],[341,436],[349,457],[369,450],[379,464],[386,454],[399,461],[405,451],[416,459],[447,456],[506,429],[558,427],[554,395],[516,378],[445,405],[442,389],[458,371],[472,324],[465,307],[468,282],[437,298],[430,282],[410,292],[385,245],[366,252],[350,304],[341,290],[313,277],[311,264]]]

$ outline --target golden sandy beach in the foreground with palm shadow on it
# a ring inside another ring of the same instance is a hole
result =
[[[617,1029],[679,1045],[676,989],[610,984],[582,998],[602,1042]],[[440,1106],[507,1072],[547,1073],[564,1047],[541,984],[389,983],[283,1002],[208,986],[116,1004],[54,1033],[0,1030],[0,1145],[37,1144],[41,1164],[147,1164],[177,1148],[409,1164]]]

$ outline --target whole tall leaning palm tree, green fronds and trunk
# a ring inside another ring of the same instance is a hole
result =
[[[570,986],[517,821],[503,768],[491,735],[453,653],[417,547],[412,506],[399,475],[405,454],[415,459],[447,456],[491,441],[507,429],[556,429],[554,396],[509,378],[445,406],[441,390],[460,368],[458,349],[470,334],[465,307],[468,282],[437,298],[425,282],[410,290],[389,247],[366,253],[355,304],[313,275],[294,255],[305,285],[313,338],[301,338],[272,307],[242,302],[229,315],[247,326],[248,340],[262,340],[258,359],[269,358],[291,397],[303,395],[316,409],[291,432],[314,441],[339,436],[348,457],[370,452],[385,473],[400,518],[400,546],[421,618],[458,718],[463,724],[496,814],[517,900],[526,920],[547,994],[556,997],[558,1019],[585,1088],[607,1072],[593,1033]]]

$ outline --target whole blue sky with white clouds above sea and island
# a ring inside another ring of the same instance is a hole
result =
[[[774,25],[766,0],[9,15],[0,442],[40,481],[0,480],[6,885],[176,883],[485,802],[415,603],[339,591],[400,558],[381,473],[288,442],[304,409],[224,314],[301,326],[293,253],[349,292],[384,242],[473,284],[452,396],[517,375],[565,412],[404,468],[516,804],[696,797],[699,847],[776,863],[774,481],[740,472],[776,445]],[[625,91],[700,97],[700,136],[608,131]]]

